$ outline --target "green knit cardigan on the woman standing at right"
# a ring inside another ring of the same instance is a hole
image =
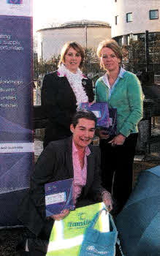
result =
[[[118,134],[128,137],[138,132],[137,124],[143,117],[144,99],[140,80],[132,72],[124,72],[108,99],[109,89],[102,78],[96,80],[96,102],[107,102],[109,108],[117,108]]]

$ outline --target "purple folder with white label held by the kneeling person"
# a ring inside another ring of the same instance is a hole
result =
[[[45,184],[46,217],[60,214],[64,209],[75,210],[74,179]]]

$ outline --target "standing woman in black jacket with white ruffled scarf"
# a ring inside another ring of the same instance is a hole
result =
[[[42,108],[48,118],[44,148],[52,140],[69,137],[72,116],[79,103],[94,100],[92,81],[80,70],[84,57],[77,42],[66,42],[58,70],[45,75],[41,93]]]

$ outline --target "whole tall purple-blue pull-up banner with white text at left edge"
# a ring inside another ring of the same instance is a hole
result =
[[[0,227],[19,225],[18,203],[33,167],[31,4],[1,0]]]

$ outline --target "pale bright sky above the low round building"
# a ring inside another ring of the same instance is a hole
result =
[[[34,33],[73,20],[111,23],[113,0],[33,0]]]

